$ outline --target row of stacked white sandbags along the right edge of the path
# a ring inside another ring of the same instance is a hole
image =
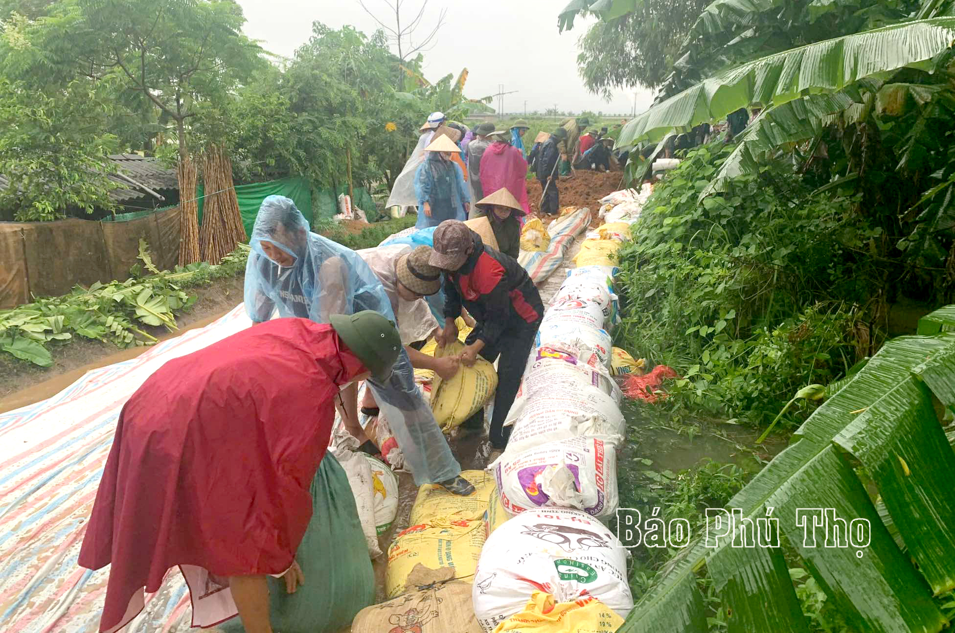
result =
[[[473,591],[487,633],[609,632],[633,606],[626,549],[600,520],[617,510],[617,447],[626,434],[610,374],[615,272],[594,265],[568,273],[508,411],[507,448],[488,467],[497,490],[483,517]]]

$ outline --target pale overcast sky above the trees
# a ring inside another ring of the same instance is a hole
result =
[[[371,34],[374,20],[357,0],[238,0],[245,18],[245,34],[261,41],[265,50],[292,56],[311,34],[315,20],[338,29],[349,24]],[[406,11],[416,13],[421,0],[404,0]],[[384,16],[384,0],[366,0],[372,11]],[[560,110],[629,113],[634,93],[618,91],[607,102],[591,95],[577,72],[577,40],[590,19],[578,19],[570,32],[557,32],[557,14],[566,0],[431,0],[420,32],[430,32],[442,8],[448,10],[447,26],[434,48],[424,53],[424,73],[435,81],[445,74],[469,71],[464,93],[469,97],[492,95],[499,84],[505,91],[505,112],[544,111],[557,104]],[[487,34],[481,34],[487,33]],[[508,33],[520,33],[510,35]],[[637,112],[643,112],[652,95],[640,90]],[[496,107],[496,104],[495,104]]]

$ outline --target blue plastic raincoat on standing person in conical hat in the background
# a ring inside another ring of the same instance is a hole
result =
[[[464,173],[455,162],[439,152],[428,156],[414,175],[414,194],[417,197],[418,217],[414,226],[428,228],[445,220],[468,219],[464,204],[471,201],[471,193],[464,182]],[[424,212],[424,203],[431,205],[431,216]]]

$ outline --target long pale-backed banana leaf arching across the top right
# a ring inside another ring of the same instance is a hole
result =
[[[673,95],[626,123],[620,146],[657,141],[758,104],[779,106],[805,95],[834,93],[859,79],[904,67],[930,70],[952,45],[955,18],[902,22],[775,53],[740,64]]]

